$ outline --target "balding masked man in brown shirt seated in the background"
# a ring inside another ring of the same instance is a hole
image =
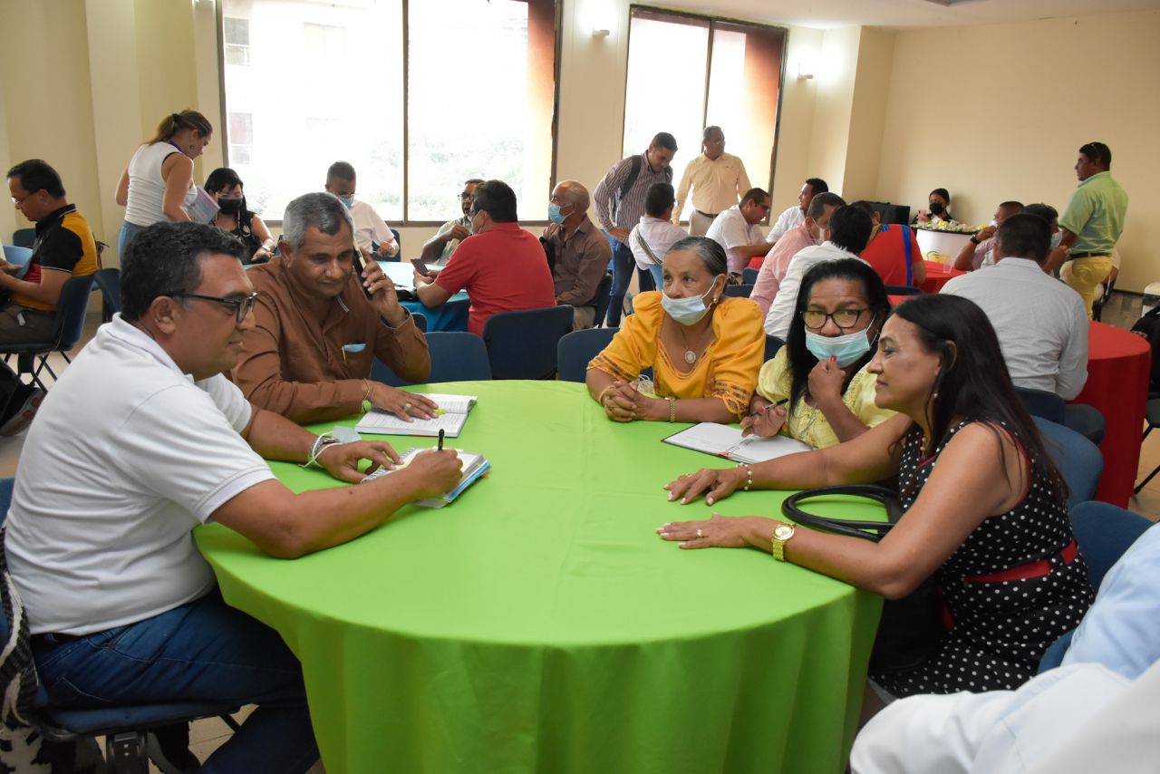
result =
[[[572,326],[590,328],[596,317],[596,289],[608,272],[612,249],[600,229],[588,218],[588,189],[565,180],[552,190],[544,239],[556,251],[556,303],[571,304]]]

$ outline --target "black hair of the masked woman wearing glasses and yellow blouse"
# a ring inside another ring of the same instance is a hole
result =
[[[818,359],[805,346],[805,320],[802,319],[802,312],[810,308],[810,294],[814,285],[825,280],[849,280],[861,283],[862,291],[867,297],[867,309],[873,314],[871,325],[875,320],[882,325],[886,321],[886,316],[890,314],[886,285],[882,283],[882,277],[869,265],[853,258],[843,258],[838,261],[822,261],[810,267],[802,277],[797,303],[793,304],[793,318],[790,320],[790,330],[785,334],[785,357],[789,361],[790,371],[790,411],[793,411],[798,400],[810,395],[810,371],[818,364]],[[870,362],[877,348],[878,339],[875,337],[870,350],[854,363],[850,375],[842,381],[842,395],[846,395],[850,381],[863,366]]]

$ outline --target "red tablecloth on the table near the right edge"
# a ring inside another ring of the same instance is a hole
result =
[[[1088,381],[1074,403],[1095,406],[1108,432],[1100,444],[1103,478],[1096,499],[1128,507],[1140,462],[1152,350],[1143,338],[1104,323],[1088,332]]]

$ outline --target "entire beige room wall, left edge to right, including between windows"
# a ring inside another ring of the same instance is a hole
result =
[[[9,39],[57,43],[57,56],[35,68],[19,48],[0,46],[0,154],[57,166],[97,236],[114,243],[123,210],[113,190],[165,113],[195,107],[222,126],[213,2],[0,0],[0,15]],[[594,188],[619,157],[628,19],[628,0],[564,3],[557,179]],[[611,34],[593,37],[594,26]],[[1139,290],[1160,279],[1148,249],[1160,238],[1160,194],[1150,185],[1160,172],[1150,143],[1160,96],[1147,80],[1160,72],[1157,41],[1155,12],[898,32],[791,27],[774,209],[791,205],[811,175],[848,197],[912,207],[947,186],[971,222],[988,219],[1003,198],[1061,209],[1075,150],[1099,138],[1131,196],[1121,287]],[[797,80],[798,62],[815,77]],[[943,88],[923,86],[934,66]],[[200,160],[198,178],[220,164],[222,142]],[[682,150],[677,167],[694,152]],[[5,237],[27,225],[3,209]],[[404,229],[405,252],[418,253],[433,232]]]

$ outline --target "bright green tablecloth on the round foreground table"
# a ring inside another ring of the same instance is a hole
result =
[[[293,562],[196,531],[226,601],[302,659],[329,772],[843,769],[877,598],[768,554],[661,541],[665,521],[710,513],[661,486],[728,464],[660,442],[684,425],[610,422],[573,383],[438,391],[479,396],[451,443],[493,464],[458,501]],[[295,491],[340,485],[274,470]],[[776,515],[783,497],[716,509]]]

